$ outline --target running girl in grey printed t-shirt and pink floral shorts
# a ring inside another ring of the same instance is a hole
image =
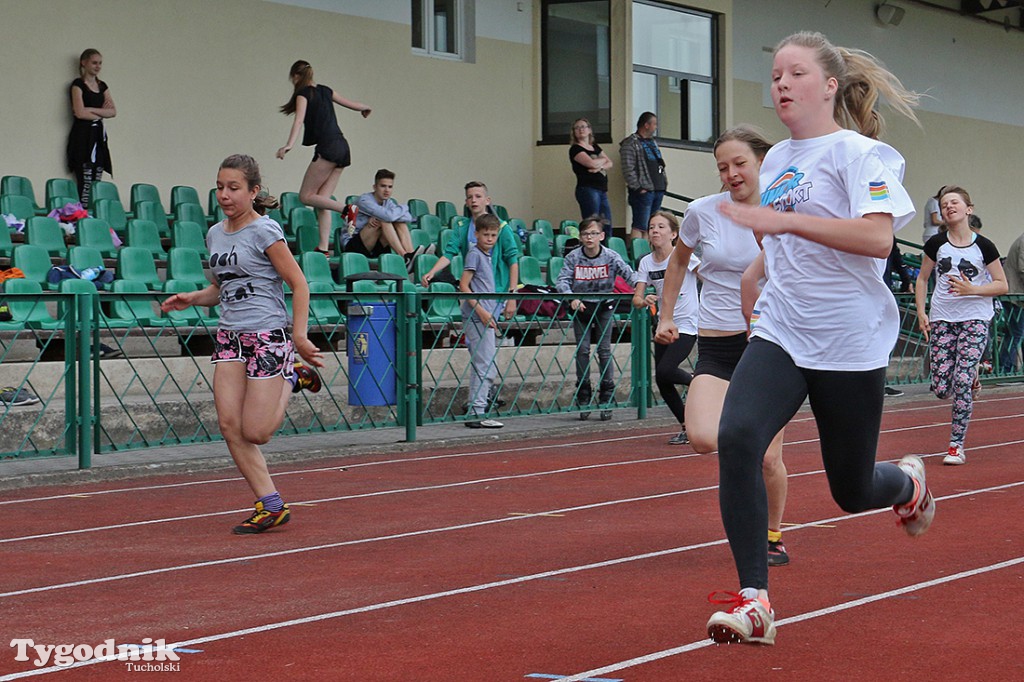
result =
[[[227,217],[206,238],[216,282],[161,304],[165,311],[220,305],[212,357],[217,421],[231,459],[257,498],[252,515],[232,529],[237,535],[288,522],[291,512],[273,486],[259,446],[281,426],[293,392],[321,389],[319,376],[295,363],[295,353],[313,367],[324,366],[306,336],[309,287],[281,225],[264,215],[278,202],[260,190],[261,184],[252,157],[224,160],[217,173],[217,203]],[[292,290],[291,321],[283,282]]]

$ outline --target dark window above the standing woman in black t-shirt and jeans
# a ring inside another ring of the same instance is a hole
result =
[[[609,0],[541,2],[541,141],[566,144],[588,119],[598,141],[611,140]]]

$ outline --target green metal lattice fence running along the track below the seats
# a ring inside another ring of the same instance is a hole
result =
[[[466,419],[470,366],[459,295],[412,287],[397,293],[389,287],[314,288],[309,336],[324,351],[324,389],[293,396],[279,434],[401,427],[407,439],[415,440],[420,425]],[[536,296],[504,298],[521,303]],[[86,468],[103,453],[219,440],[209,360],[216,311],[190,309],[165,317],[158,313],[165,297],[158,292],[4,294],[16,316],[0,323],[0,387],[32,391],[40,402],[0,403],[0,458],[75,456]],[[555,305],[569,298],[545,294]],[[656,403],[653,321],[647,309],[630,308],[629,295],[617,298],[624,312],[614,315],[611,328],[615,392],[608,403],[598,403],[596,343],[590,363],[594,390],[582,399],[572,318],[535,312],[499,325],[498,391],[490,414],[500,419],[631,408],[645,417]],[[912,296],[897,299],[901,333],[889,380],[925,382],[927,352]],[[1014,303],[1024,305],[1024,297],[1000,302],[983,382],[1024,379],[1019,368],[998,361],[1011,330],[1021,326],[1024,308]],[[102,346],[112,351],[103,357]],[[1019,347],[1014,356],[1019,357]]]

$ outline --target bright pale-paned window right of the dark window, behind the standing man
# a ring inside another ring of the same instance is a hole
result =
[[[657,115],[658,141],[718,137],[718,27],[709,12],[633,2],[633,120]]]

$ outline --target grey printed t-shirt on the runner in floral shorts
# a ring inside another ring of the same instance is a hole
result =
[[[281,225],[260,216],[228,232],[221,221],[206,235],[210,270],[220,286],[220,329],[262,332],[288,327],[285,288],[266,250],[285,240]]]

